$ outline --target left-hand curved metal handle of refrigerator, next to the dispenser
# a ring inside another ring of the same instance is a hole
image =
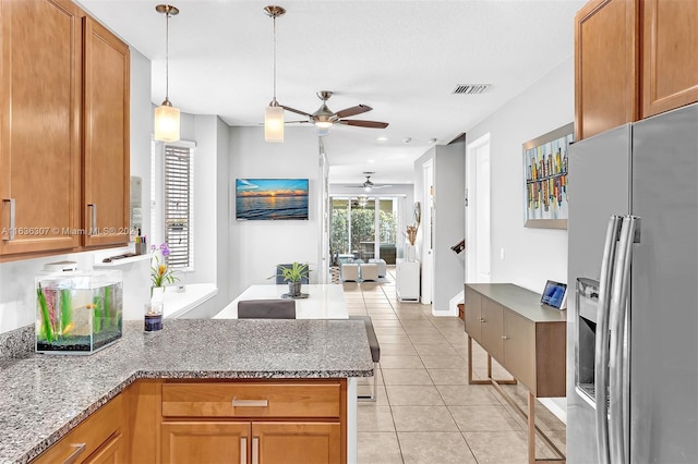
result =
[[[609,390],[609,307],[613,282],[613,266],[615,262],[616,244],[621,231],[621,216],[611,216],[606,229],[606,240],[603,245],[601,260],[601,279],[599,280],[599,313],[597,316],[597,340],[594,350],[594,400],[597,403],[597,443],[599,445],[599,463],[610,464],[609,450],[609,406],[606,392]]]

